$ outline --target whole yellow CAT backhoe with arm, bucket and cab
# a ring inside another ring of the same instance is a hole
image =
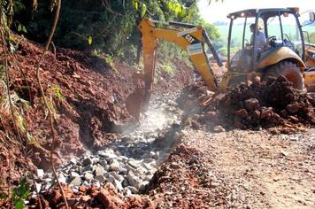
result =
[[[144,89],[137,89],[127,97],[128,112],[139,120],[140,113],[146,111],[148,107],[153,90],[157,39],[184,48],[196,71],[212,91],[225,91],[231,86],[257,77],[265,79],[268,76],[279,75],[291,81],[296,89],[304,90],[306,86],[311,90],[315,87],[315,47],[311,43],[304,42],[303,26],[298,17],[298,8],[253,9],[228,14],[230,27],[227,42],[227,73],[223,74],[220,83],[212,71],[205,45],[211,50],[218,65],[222,67],[223,64],[203,27],[180,22],[142,19],[138,28],[142,34],[145,85]],[[294,21],[293,34],[292,29],[289,31],[284,29],[284,22],[287,23],[288,19]],[[310,22],[314,22],[314,19],[314,12],[310,12]],[[240,26],[241,22],[242,35],[238,30],[238,37],[242,37],[241,43],[235,44],[234,26]],[[156,27],[157,23],[164,27]],[[254,23],[256,28],[253,33],[254,45],[248,48],[246,30],[250,23]],[[278,29],[274,28],[275,26],[278,26]],[[267,43],[263,49],[257,50],[255,46],[257,31],[262,28]]]

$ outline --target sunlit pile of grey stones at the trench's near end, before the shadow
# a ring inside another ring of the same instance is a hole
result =
[[[111,149],[97,151],[95,155],[71,159],[59,166],[58,180],[68,183],[74,191],[78,191],[82,185],[99,187],[104,182],[111,182],[125,195],[137,194],[145,189],[157,171],[158,157],[158,152],[154,151],[150,151],[145,159],[127,158]],[[37,176],[42,180],[37,185],[38,190],[49,190],[53,186],[51,173],[44,174],[38,169]]]

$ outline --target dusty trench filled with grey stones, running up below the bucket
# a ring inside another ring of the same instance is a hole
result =
[[[124,195],[144,191],[157,166],[179,143],[183,114],[174,102],[179,95],[180,91],[153,97],[136,128],[126,128],[119,140],[104,150],[86,153],[58,166],[59,182],[68,183],[74,191],[82,185],[101,186],[105,182],[111,182]],[[37,190],[50,190],[52,174],[39,171]]]

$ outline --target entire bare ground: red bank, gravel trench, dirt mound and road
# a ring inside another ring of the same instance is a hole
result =
[[[27,77],[19,68],[9,72],[12,95],[19,97],[14,104],[29,105],[21,114],[24,128],[37,139],[29,149],[36,185],[25,203],[38,208],[37,189],[45,208],[63,208],[50,173],[51,136],[35,84],[40,52],[36,44],[20,43],[17,58]],[[297,92],[283,78],[215,94],[203,81],[187,85],[191,71],[174,61],[186,70],[173,76],[157,71],[155,96],[138,124],[124,104],[136,87],[135,66],[108,66],[88,52],[59,49],[56,57],[48,54],[41,71],[58,112],[56,162],[68,204],[314,208],[314,95]],[[10,112],[1,108],[2,192],[8,185],[19,186],[27,169],[19,143],[10,141],[12,122],[3,120]],[[0,207],[12,207],[4,200],[0,198]]]

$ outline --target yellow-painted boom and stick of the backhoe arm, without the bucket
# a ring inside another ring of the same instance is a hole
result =
[[[209,65],[208,58],[204,53],[203,27],[194,27],[188,29],[186,32],[169,28],[157,28],[152,22],[150,22],[150,20],[142,19],[139,29],[142,32],[144,80],[146,88],[149,88],[149,94],[153,88],[157,38],[163,39],[167,42],[175,43],[176,45],[181,46],[186,51],[188,51],[188,47],[192,46],[193,44],[189,43],[187,37],[185,38],[186,35],[193,36],[194,40],[198,41],[198,44],[200,43],[200,49],[198,49],[196,53],[188,53],[190,60],[209,88],[211,90],[217,90],[217,85],[214,80],[211,66]]]

